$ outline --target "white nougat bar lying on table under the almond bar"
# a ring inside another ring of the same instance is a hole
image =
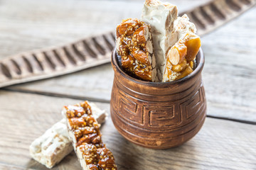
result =
[[[90,103],[90,106],[92,108],[92,115],[97,122],[100,124],[104,123],[107,115],[106,111],[97,108],[94,103]],[[49,169],[58,164],[72,151],[73,145],[68,138],[68,130],[64,118],[46,130],[29,147],[31,157]]]

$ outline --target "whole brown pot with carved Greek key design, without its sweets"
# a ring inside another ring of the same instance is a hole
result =
[[[196,63],[196,69],[182,79],[148,82],[124,73],[114,50],[110,113],[119,133],[130,142],[154,149],[176,147],[196,135],[206,118],[201,49]]]

